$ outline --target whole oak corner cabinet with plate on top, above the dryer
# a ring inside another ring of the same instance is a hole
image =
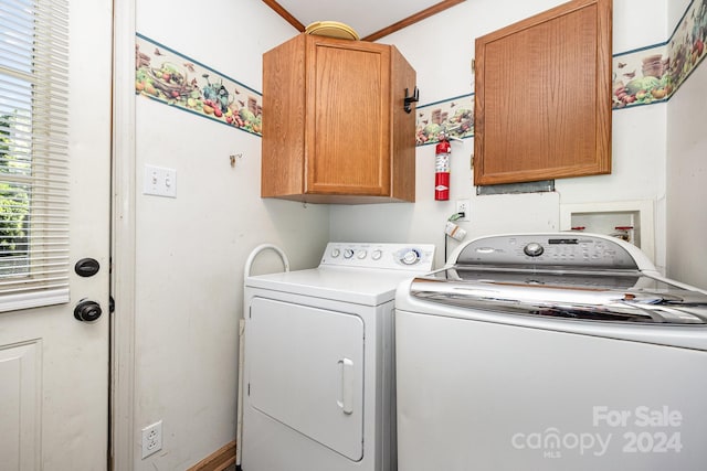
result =
[[[303,33],[266,52],[261,196],[414,201],[415,79],[391,45]]]

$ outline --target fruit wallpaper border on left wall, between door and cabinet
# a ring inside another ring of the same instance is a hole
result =
[[[137,32],[135,93],[261,136],[261,93]]]

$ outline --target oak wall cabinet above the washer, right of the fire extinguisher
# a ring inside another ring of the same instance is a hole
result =
[[[611,173],[612,1],[476,39],[474,184]]]

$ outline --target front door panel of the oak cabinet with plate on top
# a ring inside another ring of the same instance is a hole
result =
[[[390,47],[307,36],[306,193],[390,194]]]

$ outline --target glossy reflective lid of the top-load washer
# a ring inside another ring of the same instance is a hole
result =
[[[707,293],[636,270],[447,268],[414,278],[410,296],[509,314],[642,324],[707,324]]]

